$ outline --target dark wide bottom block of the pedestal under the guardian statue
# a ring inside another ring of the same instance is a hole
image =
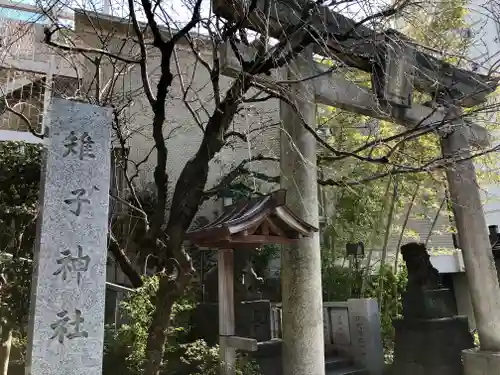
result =
[[[464,349],[474,347],[467,317],[398,319],[393,321],[393,325],[395,328],[393,374],[464,374],[461,353]],[[500,375],[500,370],[495,374]]]

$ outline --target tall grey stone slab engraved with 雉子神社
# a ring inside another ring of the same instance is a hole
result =
[[[33,269],[27,375],[100,375],[109,109],[54,99]]]

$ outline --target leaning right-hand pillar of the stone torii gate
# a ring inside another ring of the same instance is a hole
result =
[[[454,131],[442,138],[443,154],[460,159],[470,156],[466,127],[457,120]],[[481,341],[481,351],[500,351],[500,287],[493,262],[483,206],[472,160],[447,169],[450,198],[459,245]]]

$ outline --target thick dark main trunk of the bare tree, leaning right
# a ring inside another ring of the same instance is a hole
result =
[[[202,202],[209,162],[224,145],[223,134],[233,121],[240,98],[249,88],[250,83],[243,78],[233,83],[225,99],[210,117],[198,151],[186,163],[177,180],[165,230],[168,238],[167,248],[157,255],[164,261],[175,259],[180,268],[179,276],[175,281],[169,280],[168,275],[160,279],[155,312],[149,327],[144,375],[160,374],[172,306],[182,296],[194,275],[191,258],[182,248],[184,233],[188,230]]]

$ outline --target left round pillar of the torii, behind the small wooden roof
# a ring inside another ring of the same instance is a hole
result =
[[[289,80],[308,77],[312,52],[306,51],[287,68]],[[308,223],[318,226],[316,141],[302,124],[316,125],[311,81],[290,85],[302,116],[280,104],[281,186],[288,206]],[[302,117],[302,119],[300,118]],[[283,302],[283,374],[324,375],[323,300],[319,234],[285,247],[281,257]]]

